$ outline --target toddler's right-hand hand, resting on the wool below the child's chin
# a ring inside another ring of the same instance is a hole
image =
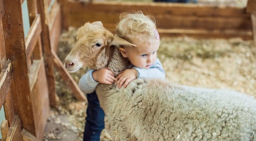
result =
[[[137,70],[136,69],[126,69],[118,74],[116,86],[121,88],[122,86],[126,88],[126,86],[134,79],[137,78]]]

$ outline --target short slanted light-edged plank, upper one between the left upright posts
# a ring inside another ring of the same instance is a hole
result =
[[[31,54],[37,43],[36,39],[40,37],[40,33],[41,33],[41,21],[40,21],[40,16],[37,15],[32,25],[30,26],[27,37],[25,38],[27,60],[31,58]]]

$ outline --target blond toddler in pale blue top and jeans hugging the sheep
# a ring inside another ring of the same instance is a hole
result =
[[[136,78],[164,79],[165,72],[157,58],[160,40],[155,20],[142,12],[123,13],[117,25],[116,36],[127,40],[136,47],[121,46],[120,53],[127,58],[133,68],[122,71],[115,78],[108,68],[88,70],[79,80],[79,88],[87,94],[88,107],[83,140],[99,140],[104,129],[104,111],[100,107],[95,89],[98,83],[126,87]]]

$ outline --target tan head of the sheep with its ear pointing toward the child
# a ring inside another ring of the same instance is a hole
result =
[[[65,67],[69,72],[76,72],[81,67],[100,69],[106,67],[110,59],[112,46],[132,45],[121,38],[115,37],[106,30],[101,21],[87,22],[77,32],[75,46],[65,59]]]

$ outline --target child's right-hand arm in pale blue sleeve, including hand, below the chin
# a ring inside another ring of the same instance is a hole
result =
[[[150,69],[142,69],[138,67],[133,67],[132,69],[126,69],[117,76],[116,86],[121,88],[126,86],[136,78],[158,78],[164,79],[165,71],[163,70],[163,66],[160,63],[159,59],[150,67]]]

